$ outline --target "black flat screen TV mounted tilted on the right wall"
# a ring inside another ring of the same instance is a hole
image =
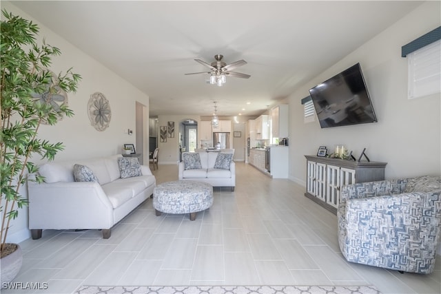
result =
[[[377,121],[360,63],[311,90],[320,127],[340,127]]]

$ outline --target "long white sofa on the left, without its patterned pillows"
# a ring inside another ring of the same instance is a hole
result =
[[[101,229],[103,238],[110,238],[114,224],[152,196],[156,185],[150,168],[137,162],[136,172],[142,175],[121,178],[118,158],[122,156],[41,165],[45,182],[28,182],[32,239],[41,238],[43,229]],[[75,164],[88,167],[99,182],[76,182]]]

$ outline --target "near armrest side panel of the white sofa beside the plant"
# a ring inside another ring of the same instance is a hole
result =
[[[29,229],[110,229],[113,207],[98,182],[28,182]]]

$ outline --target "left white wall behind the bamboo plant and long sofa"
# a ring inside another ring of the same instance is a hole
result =
[[[65,145],[64,151],[59,152],[55,160],[120,154],[124,143],[135,144],[135,136],[129,136],[127,129],[133,129],[134,134],[136,134],[136,102],[149,105],[149,97],[114,72],[108,70],[101,63],[75,48],[61,36],[45,28],[28,14],[12,6],[11,3],[2,3],[2,9],[37,23],[40,28],[40,37],[37,40],[41,41],[44,37],[47,43],[61,50],[61,56],[56,56],[52,60],[51,70],[53,72],[65,72],[65,70],[73,67],[73,72],[82,76],[76,94],[68,95],[69,105],[74,111],[74,116],[64,118],[54,126],[44,125],[39,131],[41,138],[48,139],[52,143],[63,142]],[[90,125],[88,118],[88,101],[90,95],[94,92],[103,93],[112,109],[110,127],[105,129],[104,132],[96,131]],[[148,117],[145,118],[145,121],[148,122]],[[34,156],[32,159],[34,162],[41,162],[38,156]],[[27,196],[25,189],[23,194]],[[14,220],[8,233],[8,242],[21,242],[21,240],[29,238],[30,233],[27,228],[28,209],[25,208],[21,209],[19,218]]]

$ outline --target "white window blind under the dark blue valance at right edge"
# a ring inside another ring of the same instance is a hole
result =
[[[441,92],[441,40],[412,53],[408,58],[408,98]]]

